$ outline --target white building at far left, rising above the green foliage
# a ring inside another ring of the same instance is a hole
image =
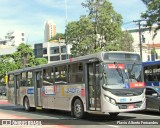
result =
[[[19,46],[19,44],[25,43],[25,33],[19,30],[10,31],[6,34],[5,39],[7,45]]]

